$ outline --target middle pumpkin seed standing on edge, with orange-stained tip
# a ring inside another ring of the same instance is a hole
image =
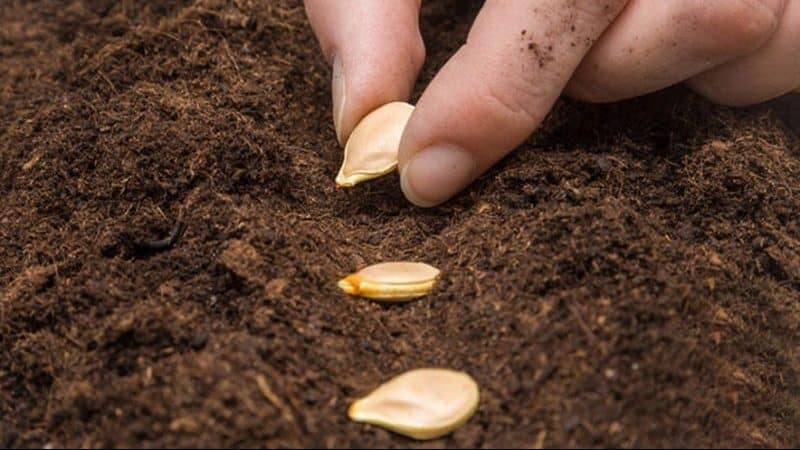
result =
[[[348,275],[339,287],[350,295],[400,302],[430,292],[437,276],[439,269],[425,263],[387,262]]]

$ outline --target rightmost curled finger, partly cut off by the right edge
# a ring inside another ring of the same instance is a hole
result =
[[[800,2],[787,1],[778,31],[757,52],[702,73],[687,83],[718,103],[745,106],[800,86]]]

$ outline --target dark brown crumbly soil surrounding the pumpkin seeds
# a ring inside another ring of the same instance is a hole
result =
[[[424,3],[415,95],[479,6]],[[299,2],[2,1],[0,446],[800,446],[773,112],[564,99],[423,210],[335,188],[329,78]],[[398,259],[435,291],[336,287]],[[452,435],[347,419],[426,366],[481,387]]]

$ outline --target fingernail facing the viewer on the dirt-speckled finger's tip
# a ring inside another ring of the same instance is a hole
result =
[[[472,155],[453,145],[428,147],[400,171],[400,188],[408,201],[430,208],[464,189],[475,178]]]

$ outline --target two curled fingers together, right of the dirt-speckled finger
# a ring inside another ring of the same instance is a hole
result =
[[[590,102],[686,82],[730,106],[800,86],[800,2],[633,0],[592,47],[566,92]]]

